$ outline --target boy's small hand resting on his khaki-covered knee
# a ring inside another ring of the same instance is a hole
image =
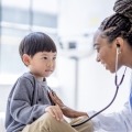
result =
[[[45,111],[53,116],[56,120],[63,121],[63,112],[58,105],[46,107]]]

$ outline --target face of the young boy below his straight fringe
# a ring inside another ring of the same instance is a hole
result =
[[[29,56],[28,67],[36,77],[48,77],[55,69],[56,53],[38,52],[33,57]]]

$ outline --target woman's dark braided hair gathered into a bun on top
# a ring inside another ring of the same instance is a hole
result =
[[[121,36],[132,46],[132,0],[117,0],[113,10],[116,13],[106,18],[99,30],[110,42]]]

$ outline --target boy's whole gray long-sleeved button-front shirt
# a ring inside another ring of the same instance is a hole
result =
[[[31,73],[16,80],[8,98],[7,132],[22,131],[45,113],[45,108],[53,105],[47,90],[46,81],[38,81]]]

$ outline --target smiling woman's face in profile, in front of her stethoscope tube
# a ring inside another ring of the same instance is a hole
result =
[[[116,73],[117,45],[110,43],[101,31],[97,31],[94,37],[94,47],[97,51],[97,62],[100,62],[107,70]],[[118,67],[119,68],[119,67]]]

